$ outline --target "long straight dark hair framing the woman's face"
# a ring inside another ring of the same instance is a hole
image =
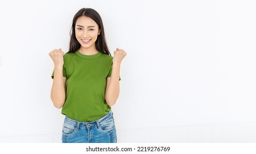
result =
[[[75,14],[72,27],[70,29],[69,51],[67,53],[74,53],[81,47],[80,43],[75,37],[75,23],[77,23],[77,19],[83,15],[94,20],[99,26],[99,30],[101,30],[100,35],[97,36],[97,40],[95,42],[96,50],[111,56],[111,53],[107,47],[104,26],[100,14],[91,8],[82,8],[77,12],[77,14]]]

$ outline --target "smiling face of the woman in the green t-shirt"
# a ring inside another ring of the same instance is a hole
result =
[[[95,48],[95,41],[100,34],[99,26],[89,17],[81,16],[75,23],[75,37],[84,48]]]

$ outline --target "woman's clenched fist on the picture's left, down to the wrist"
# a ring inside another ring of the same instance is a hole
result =
[[[64,60],[63,60],[64,52],[59,48],[58,50],[55,49],[49,53],[49,56],[52,58],[55,67],[63,67]]]

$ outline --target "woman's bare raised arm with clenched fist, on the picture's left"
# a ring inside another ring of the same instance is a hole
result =
[[[61,49],[53,50],[49,53],[55,64],[51,100],[56,108],[62,108],[66,100],[66,78],[63,77],[63,54],[64,52]]]

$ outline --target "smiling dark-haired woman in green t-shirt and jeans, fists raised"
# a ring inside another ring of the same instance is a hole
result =
[[[66,115],[62,142],[117,142],[111,106],[119,96],[119,73],[126,52],[108,51],[99,13],[80,9],[73,18],[69,51],[49,53],[51,100]]]

